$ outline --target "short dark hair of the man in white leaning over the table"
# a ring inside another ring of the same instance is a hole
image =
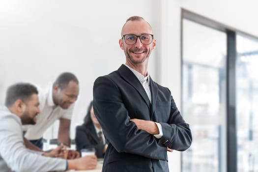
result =
[[[73,81],[79,85],[79,81],[73,73],[64,72],[57,77],[57,80],[55,81],[53,86],[57,85],[59,86],[59,88],[63,89],[69,84],[70,81]]]

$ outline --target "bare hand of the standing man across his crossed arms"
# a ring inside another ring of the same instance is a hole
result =
[[[136,124],[138,130],[144,130],[151,135],[159,134],[158,126],[153,121],[136,118],[130,119],[130,121]]]

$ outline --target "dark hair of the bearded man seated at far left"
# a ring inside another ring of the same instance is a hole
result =
[[[32,94],[38,94],[36,86],[29,83],[17,83],[7,88],[4,105],[10,107],[16,100],[26,102]]]

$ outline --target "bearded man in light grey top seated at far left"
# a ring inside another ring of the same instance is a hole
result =
[[[7,89],[5,107],[0,109],[0,171],[49,172],[68,169],[87,170],[97,165],[95,155],[74,160],[45,157],[47,153],[25,146],[22,125],[35,124],[40,113],[35,86],[20,83]],[[63,155],[59,146],[56,157]],[[43,156],[42,156],[43,155]]]

